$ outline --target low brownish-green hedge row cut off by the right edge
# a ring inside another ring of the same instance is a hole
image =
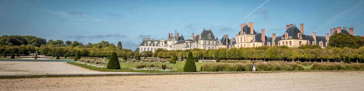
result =
[[[364,70],[364,63],[323,62],[313,63],[310,70]]]

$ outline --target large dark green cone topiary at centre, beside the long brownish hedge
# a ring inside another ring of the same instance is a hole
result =
[[[196,72],[196,65],[193,61],[193,55],[191,52],[188,52],[187,60],[185,62],[185,66],[183,67],[183,72]]]

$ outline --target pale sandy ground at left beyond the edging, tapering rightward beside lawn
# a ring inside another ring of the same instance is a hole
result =
[[[0,75],[44,74],[111,74],[133,72],[102,72],[68,64],[66,62],[0,61]]]

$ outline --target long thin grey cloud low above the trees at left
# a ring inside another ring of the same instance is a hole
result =
[[[89,39],[98,39],[98,38],[126,38],[127,36],[125,35],[120,35],[118,33],[116,34],[107,34],[107,35],[94,35],[94,36],[84,36],[84,35],[66,35],[66,37],[70,37],[70,38],[75,38],[75,39],[82,39],[82,38],[89,38]]]

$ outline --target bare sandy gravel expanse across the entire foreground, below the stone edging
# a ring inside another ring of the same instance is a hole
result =
[[[363,91],[364,71],[0,79],[0,90]]]

